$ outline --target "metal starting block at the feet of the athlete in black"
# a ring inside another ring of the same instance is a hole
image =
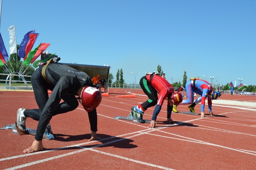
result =
[[[36,135],[36,130],[35,129],[30,129],[30,128],[26,128],[25,132],[22,132],[18,127],[17,127],[17,122],[15,122],[14,124],[7,124],[4,125],[4,128],[0,128],[0,129],[12,129],[12,133],[18,134],[18,135]],[[54,139],[54,136],[51,133],[46,133],[44,132],[44,136],[43,138],[50,140],[50,139]]]

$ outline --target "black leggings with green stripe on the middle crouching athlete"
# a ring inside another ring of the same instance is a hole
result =
[[[141,107],[144,110],[147,110],[147,108],[155,106],[158,100],[157,92],[156,89],[147,81],[146,76],[143,76],[140,79],[140,87],[142,88],[143,92],[148,96],[148,100],[142,103]]]

